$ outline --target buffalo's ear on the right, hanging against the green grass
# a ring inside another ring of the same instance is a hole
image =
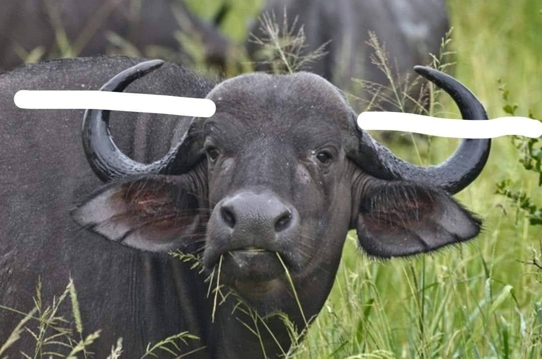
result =
[[[359,245],[379,258],[430,252],[466,241],[481,221],[440,189],[377,181],[362,195],[356,219]]]

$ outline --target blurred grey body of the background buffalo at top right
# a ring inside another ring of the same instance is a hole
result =
[[[325,48],[328,54],[309,63],[307,69],[342,89],[352,88],[352,78],[389,85],[370,61],[374,52],[366,43],[369,31],[385,44],[392,70],[395,72],[397,64],[404,75],[415,65],[431,62],[429,53],[438,55],[441,39],[449,29],[443,0],[269,0],[264,11],[274,12],[282,25],[285,9],[289,28],[294,27],[294,21],[295,28],[304,27],[305,53],[329,42]],[[251,32],[264,36],[259,22]],[[256,44],[249,41],[247,47],[255,57],[259,50]]]

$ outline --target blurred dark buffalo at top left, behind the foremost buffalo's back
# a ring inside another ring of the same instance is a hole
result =
[[[225,11],[218,13],[216,22]],[[228,42],[215,24],[203,22],[177,0],[4,0],[0,70],[19,65],[38,47],[57,57],[105,54],[112,47],[108,32],[141,53],[150,46],[184,53],[176,40],[178,31],[200,36],[209,62],[224,62]]]

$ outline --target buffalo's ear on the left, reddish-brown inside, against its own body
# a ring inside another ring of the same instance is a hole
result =
[[[190,177],[146,176],[106,185],[72,211],[81,226],[123,245],[167,252],[205,230],[203,194]]]

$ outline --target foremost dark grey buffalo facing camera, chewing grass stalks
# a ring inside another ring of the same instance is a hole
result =
[[[0,75],[0,304],[29,310],[38,276],[46,298],[71,275],[85,330],[102,329],[96,357],[118,337],[122,357],[139,357],[147,343],[180,331],[200,338],[186,347],[200,349],[191,357],[279,357],[291,345],[281,320],[258,322],[260,342],[236,296],[262,317],[286,313],[302,330],[331,290],[349,229],[376,258],[479,233],[480,220],[450,194],[480,174],[488,139],[463,140],[446,162],[421,168],[360,130],[344,94],[318,75],[252,73],[214,84],[178,65],[139,61],[57,60]],[[416,70],[451,95],[463,118],[487,119],[459,82]],[[81,146],[82,112],[12,104],[22,88],[96,89],[106,81],[104,91],[206,97],[217,111],[175,119],[88,110]],[[86,230],[70,218],[73,202],[71,216]],[[199,256],[203,273],[165,254],[177,249]],[[224,292],[237,293],[216,312],[204,283],[212,271]],[[20,319],[0,311],[0,338]]]

